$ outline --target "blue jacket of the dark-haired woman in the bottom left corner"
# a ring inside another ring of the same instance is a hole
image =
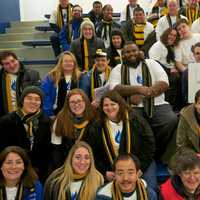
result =
[[[42,200],[43,188],[39,181],[35,183],[35,191],[31,192],[28,188],[24,191],[24,200]]]

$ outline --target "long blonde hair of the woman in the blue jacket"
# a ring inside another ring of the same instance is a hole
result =
[[[62,64],[63,64],[64,57],[66,55],[71,56],[73,63],[74,63],[74,69],[72,72],[72,80],[77,81],[81,75],[81,72],[79,70],[78,63],[76,61],[75,56],[73,55],[73,53],[71,53],[69,51],[65,51],[60,54],[57,65],[49,72],[49,75],[53,79],[55,86],[58,86],[59,81],[62,78],[64,78]]]

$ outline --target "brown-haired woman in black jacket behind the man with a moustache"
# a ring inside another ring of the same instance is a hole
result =
[[[112,166],[116,157],[120,153],[132,153],[140,159],[144,179],[151,187],[156,188],[156,180],[152,178],[155,173],[155,144],[148,123],[134,112],[116,91],[105,93],[99,110],[97,129],[93,134],[94,144],[91,144],[94,155],[98,156],[98,169],[111,181],[114,178]],[[151,178],[147,173],[150,168]]]

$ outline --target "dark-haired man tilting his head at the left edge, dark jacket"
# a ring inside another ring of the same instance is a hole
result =
[[[3,116],[19,107],[22,90],[27,85],[39,85],[40,76],[37,71],[26,69],[10,51],[1,53],[0,65],[0,116]]]

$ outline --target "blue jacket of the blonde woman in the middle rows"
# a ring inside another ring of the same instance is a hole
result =
[[[81,81],[82,75],[80,77],[80,80],[78,81],[78,88],[82,88],[81,85],[84,83]],[[48,116],[54,116],[54,108],[53,105],[56,101],[56,90],[57,87],[55,86],[52,78],[47,75],[44,77],[44,79],[41,81],[40,85],[42,91],[44,92],[44,99],[43,99],[43,111]]]

